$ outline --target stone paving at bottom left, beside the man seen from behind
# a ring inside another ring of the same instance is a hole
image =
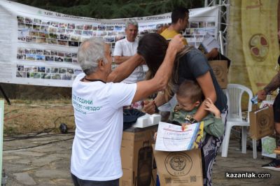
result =
[[[15,141],[4,139],[3,169],[8,176],[7,186],[73,185],[69,171],[73,134],[41,136]]]

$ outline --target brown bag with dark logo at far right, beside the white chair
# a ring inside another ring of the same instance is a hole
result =
[[[253,139],[260,139],[274,134],[274,117],[272,106],[249,113],[250,135]]]

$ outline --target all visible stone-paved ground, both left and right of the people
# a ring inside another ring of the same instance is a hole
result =
[[[26,139],[24,136],[4,138],[3,169],[8,176],[6,185],[73,185],[69,172],[72,141],[73,134],[40,134],[37,138]],[[253,159],[252,151],[244,155],[237,151],[238,147],[238,141],[233,139],[230,141],[228,158],[218,156],[214,165],[214,185],[280,185],[280,171],[260,168],[270,161],[269,158],[261,159],[258,152],[258,159]],[[225,172],[244,171],[269,173],[271,178],[225,178]]]

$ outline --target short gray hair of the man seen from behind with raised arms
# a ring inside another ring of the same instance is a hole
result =
[[[100,59],[106,63],[103,38],[88,38],[78,49],[78,63],[86,75],[97,71]]]

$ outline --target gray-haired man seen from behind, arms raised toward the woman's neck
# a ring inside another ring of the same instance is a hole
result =
[[[74,185],[119,185],[123,176],[120,145],[123,134],[123,106],[164,90],[172,74],[176,53],[183,48],[182,36],[169,43],[160,69],[151,80],[120,82],[143,63],[136,54],[111,71],[111,50],[102,38],[90,38],[78,49],[83,73],[72,85],[76,131],[71,155]]]

